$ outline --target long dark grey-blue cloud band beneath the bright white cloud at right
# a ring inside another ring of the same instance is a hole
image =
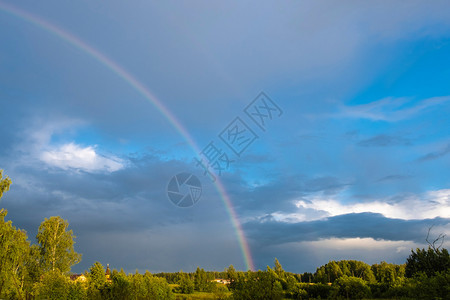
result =
[[[444,218],[400,220],[375,213],[354,213],[299,223],[278,222],[266,216],[244,224],[244,228],[258,245],[358,237],[423,242],[430,226],[449,223],[450,219]]]

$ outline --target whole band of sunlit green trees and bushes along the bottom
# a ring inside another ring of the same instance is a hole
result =
[[[0,170],[0,198],[10,184]],[[450,256],[442,243],[436,246],[443,241],[441,235],[427,249],[412,250],[402,265],[341,260],[330,261],[315,273],[296,274],[284,271],[275,259],[273,268],[256,272],[237,271],[231,265],[223,272],[197,267],[190,273],[152,275],[105,270],[96,262],[82,276],[73,276],[71,267],[81,255],[74,250],[75,236],[66,220],[45,219],[36,244],[31,244],[25,231],[5,221],[6,215],[1,209],[0,299],[194,299],[199,293],[201,299],[235,300],[450,299]]]

